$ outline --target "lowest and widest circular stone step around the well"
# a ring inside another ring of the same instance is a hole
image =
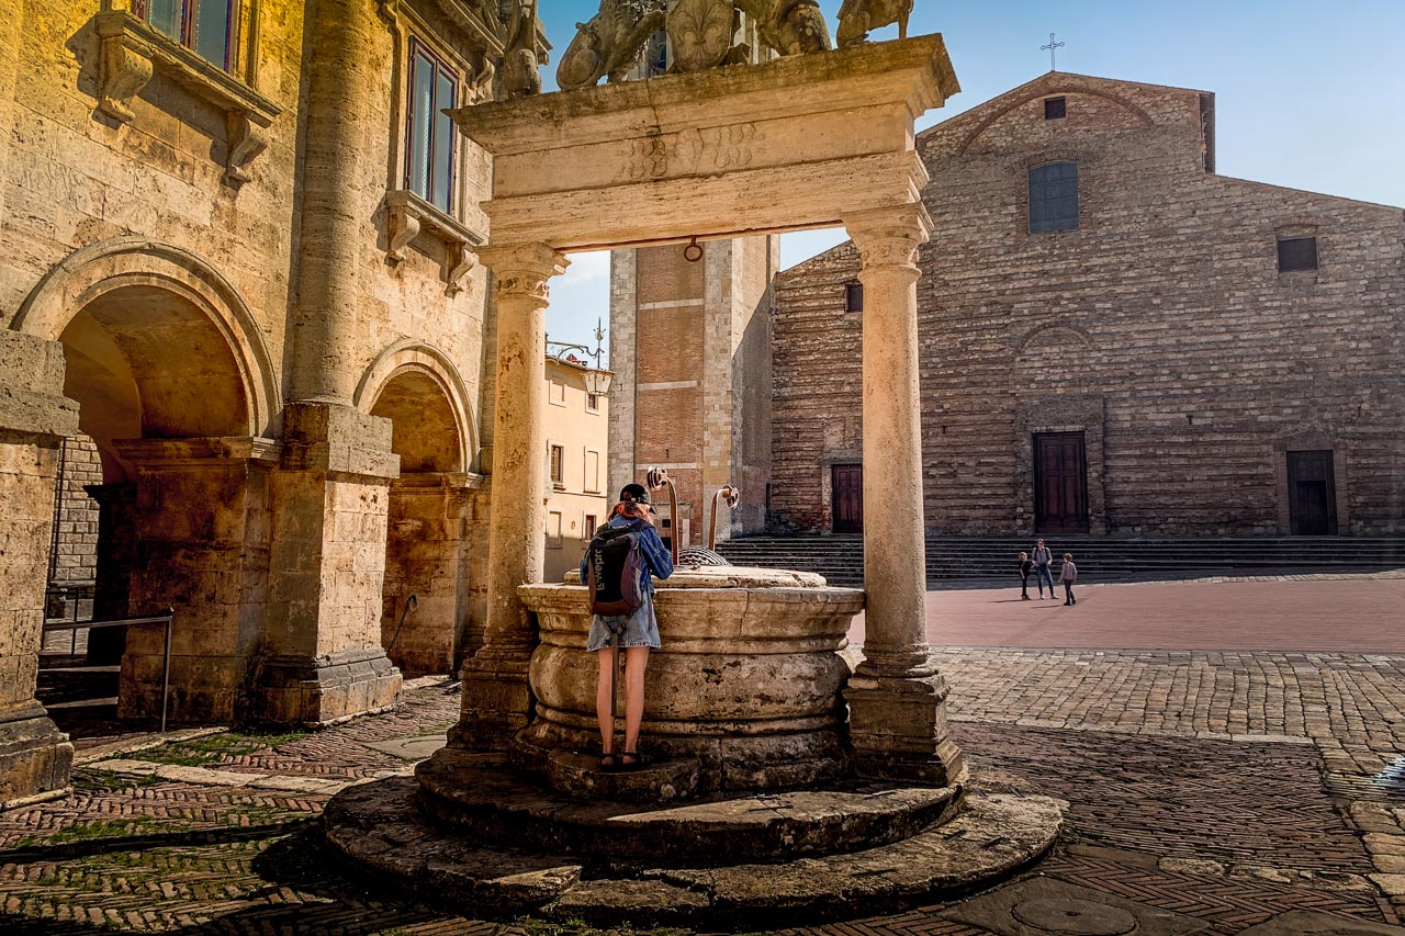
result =
[[[485,767],[473,780],[482,773],[492,772]],[[943,794],[946,807],[940,805]],[[499,787],[479,795],[485,801],[506,795],[500,801],[511,810],[513,798],[521,808],[527,794]],[[939,817],[951,812],[951,801],[958,798],[954,790],[930,788],[889,788],[887,794],[818,791],[695,802],[658,812],[693,811],[693,819],[701,822],[701,811],[711,807],[717,817],[712,829],[752,824],[774,831],[784,828],[785,817],[794,824],[801,814],[818,818],[828,811],[843,819],[842,810],[857,805],[864,795],[874,812],[881,812],[881,801],[895,798],[908,804],[909,815],[926,808]],[[822,805],[826,797],[840,797],[846,805],[840,800]],[[409,777],[350,787],[323,814],[327,840],[355,863],[392,874],[471,915],[511,919],[531,914],[597,926],[707,923],[757,929],[895,911],[993,887],[1038,860],[1062,825],[1055,800],[968,791],[960,797],[961,810],[954,817],[875,847],[686,866],[613,860],[592,852],[572,854],[562,847],[530,849],[523,842],[517,847],[495,843],[426,815],[420,798],[420,784]],[[424,798],[433,801],[431,795]],[[776,818],[766,818],[769,812]],[[617,811],[613,818],[601,814],[600,822],[635,818]],[[655,821],[662,818],[656,815]]]

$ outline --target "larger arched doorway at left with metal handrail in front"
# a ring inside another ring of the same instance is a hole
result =
[[[62,347],[63,392],[79,403],[69,446],[100,472],[84,490],[96,540],[56,550],[89,552],[97,617],[176,610],[173,720],[236,718],[267,603],[275,461],[257,437],[277,396],[247,309],[197,257],[124,240],[56,267],[14,326]],[[162,628],[90,648],[121,658],[119,715],[160,713]]]

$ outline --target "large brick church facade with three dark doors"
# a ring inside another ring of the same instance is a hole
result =
[[[1405,212],[1215,173],[1214,96],[1050,73],[917,138],[934,533],[1405,533]],[[771,523],[863,523],[858,252],[784,271]]]

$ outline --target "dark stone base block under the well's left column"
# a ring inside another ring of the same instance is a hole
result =
[[[464,662],[464,707],[448,732],[451,748],[506,750],[517,732],[531,724],[537,700],[531,694],[531,652],[479,651]]]

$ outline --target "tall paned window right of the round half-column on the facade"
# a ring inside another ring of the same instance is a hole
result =
[[[454,208],[454,121],[444,114],[458,76],[419,39],[410,39],[410,107],[405,187],[443,212]]]

